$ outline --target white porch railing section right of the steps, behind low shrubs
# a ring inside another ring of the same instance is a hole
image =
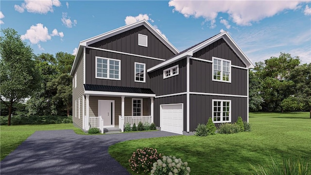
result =
[[[119,116],[119,128],[122,132],[125,124],[129,123],[132,127],[134,123],[137,126],[139,122],[151,124],[153,123],[152,116]]]

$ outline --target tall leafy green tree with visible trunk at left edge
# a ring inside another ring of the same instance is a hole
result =
[[[11,125],[12,107],[30,97],[41,79],[32,60],[33,50],[14,29],[2,29],[0,36],[1,103],[8,107],[8,125]]]

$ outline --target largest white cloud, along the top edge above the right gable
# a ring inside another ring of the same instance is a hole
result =
[[[229,19],[241,26],[252,25],[253,22],[263,18],[268,18],[284,10],[296,10],[301,8],[302,1],[190,1],[190,0],[171,0],[169,6],[174,7],[173,12],[177,11],[185,17],[203,17],[207,21],[217,18],[218,13],[227,13]],[[213,26],[213,22],[211,23]]]

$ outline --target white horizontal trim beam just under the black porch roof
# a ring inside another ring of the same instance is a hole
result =
[[[109,91],[93,91],[85,90],[85,94],[89,95],[106,95],[106,96],[129,96],[129,97],[155,97],[155,94],[129,93],[129,92],[109,92]]]

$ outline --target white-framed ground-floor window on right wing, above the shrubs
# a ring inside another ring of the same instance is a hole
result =
[[[213,123],[231,122],[231,100],[212,100]]]

